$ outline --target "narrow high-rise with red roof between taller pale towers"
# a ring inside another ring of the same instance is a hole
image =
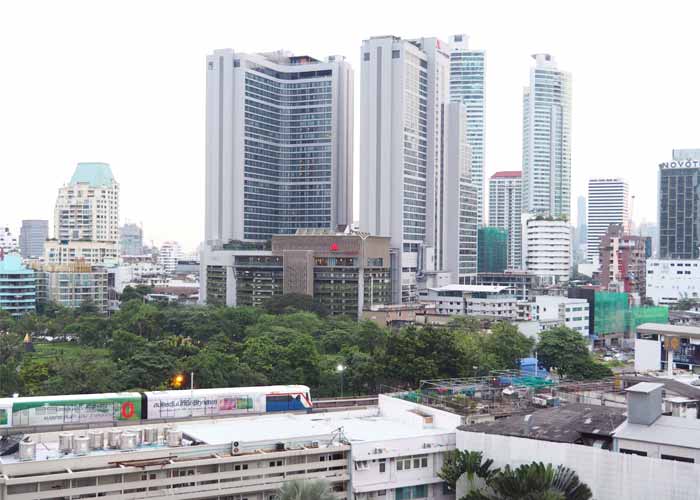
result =
[[[489,179],[489,226],[508,231],[508,268],[522,269],[522,172],[496,172]]]

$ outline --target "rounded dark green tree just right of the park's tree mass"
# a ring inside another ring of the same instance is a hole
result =
[[[609,368],[591,357],[587,341],[575,330],[557,326],[540,333],[537,356],[547,369],[572,379],[596,379],[612,376]]]

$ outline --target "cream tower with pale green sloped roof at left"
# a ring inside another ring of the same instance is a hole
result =
[[[107,163],[78,163],[58,190],[54,238],[59,241],[119,241],[119,184]]]

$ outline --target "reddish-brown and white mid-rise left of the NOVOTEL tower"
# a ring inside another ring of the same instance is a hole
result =
[[[599,281],[603,290],[633,294],[643,302],[648,246],[650,238],[629,234],[623,224],[609,226],[599,243]]]

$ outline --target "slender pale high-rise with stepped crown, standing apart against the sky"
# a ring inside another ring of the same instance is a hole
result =
[[[523,211],[570,217],[571,75],[534,54],[523,92]]]

